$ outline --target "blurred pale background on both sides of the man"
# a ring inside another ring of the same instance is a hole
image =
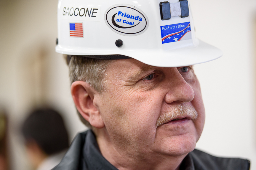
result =
[[[197,148],[251,160],[256,169],[256,1],[189,0],[197,38],[223,50],[195,65],[206,110]],[[55,52],[57,0],[0,0],[0,165],[30,170],[20,125],[38,107],[63,116],[69,141],[86,127]]]

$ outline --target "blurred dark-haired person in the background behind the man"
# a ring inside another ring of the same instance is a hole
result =
[[[69,146],[63,118],[52,109],[34,110],[23,123],[22,133],[29,160],[36,170],[52,169]]]

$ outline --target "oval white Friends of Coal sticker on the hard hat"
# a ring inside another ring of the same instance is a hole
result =
[[[105,12],[104,18],[108,27],[121,35],[139,35],[148,28],[148,18],[144,12],[128,4],[111,6]]]

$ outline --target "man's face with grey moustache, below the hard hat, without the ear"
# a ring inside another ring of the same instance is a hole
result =
[[[106,70],[106,80],[98,110],[118,152],[180,156],[195,148],[205,113],[191,66],[153,67],[135,59],[116,60]]]

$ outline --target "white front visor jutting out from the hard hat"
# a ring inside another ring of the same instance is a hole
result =
[[[157,67],[181,67],[216,60],[223,52],[199,39],[197,45],[170,51],[141,50],[140,54],[128,55],[140,62]],[[126,53],[127,55],[127,53]]]

